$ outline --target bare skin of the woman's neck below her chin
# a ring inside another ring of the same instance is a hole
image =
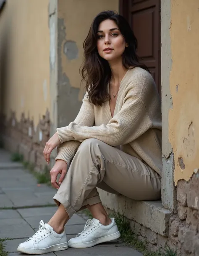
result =
[[[120,83],[127,69],[122,65],[122,60],[119,62],[109,62],[109,65],[112,72],[112,81],[116,85]]]

